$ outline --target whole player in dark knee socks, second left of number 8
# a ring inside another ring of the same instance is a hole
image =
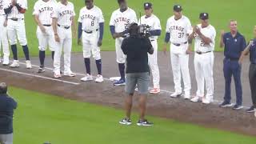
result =
[[[51,26],[51,15],[54,13],[56,6],[55,0],[38,0],[34,4],[34,21],[38,25],[37,38],[39,49],[40,66],[38,73],[45,72],[44,63],[46,58],[46,49],[49,45],[51,51],[51,57],[54,59],[54,51],[56,49],[56,42],[54,41],[54,30]]]

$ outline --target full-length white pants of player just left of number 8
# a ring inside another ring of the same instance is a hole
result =
[[[70,70],[70,59],[71,59],[71,50],[72,50],[72,31],[71,27],[65,29],[63,27],[57,28],[58,37],[60,42],[56,42],[57,49],[54,53],[54,72],[60,73],[61,68],[61,57],[62,50],[64,52],[64,74],[69,74]]]

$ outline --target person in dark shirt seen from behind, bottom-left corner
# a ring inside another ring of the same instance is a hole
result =
[[[0,83],[0,144],[13,143],[13,115],[17,102],[7,94],[6,83]]]

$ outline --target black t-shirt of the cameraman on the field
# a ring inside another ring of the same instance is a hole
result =
[[[121,48],[126,54],[126,74],[150,72],[147,54],[152,45],[149,38],[130,36],[123,40]]]

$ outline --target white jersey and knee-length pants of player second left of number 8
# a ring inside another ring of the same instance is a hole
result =
[[[46,29],[46,33],[43,33],[39,26],[37,28],[39,50],[45,51],[47,49],[47,46],[49,46],[51,51],[54,51],[56,49],[54,30],[51,26],[51,15],[54,13],[55,7],[55,0],[49,0],[48,2],[38,0],[38,2],[35,2],[34,4],[33,15],[38,15],[39,21],[42,23],[42,26],[44,26],[44,28]]]

